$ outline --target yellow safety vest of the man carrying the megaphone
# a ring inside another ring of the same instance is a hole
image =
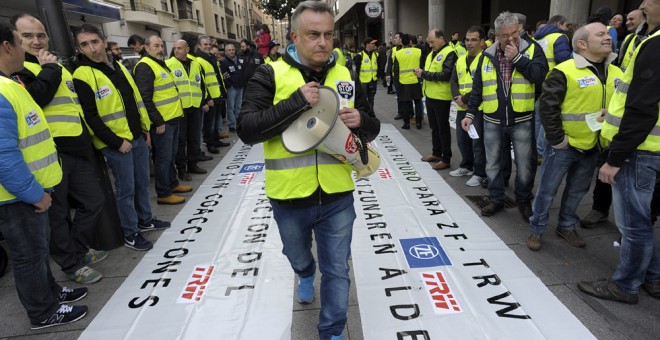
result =
[[[275,97],[273,105],[289,98],[305,85],[300,70],[278,60],[272,64],[275,73]],[[355,83],[344,66],[335,64],[326,76],[324,85],[339,89],[337,92],[354,106]],[[352,88],[351,88],[352,87]],[[319,186],[329,194],[351,191],[355,188],[350,165],[316,150],[292,154],[282,145],[282,137],[276,136],[264,142],[266,160],[266,195],[274,199],[308,197]]]

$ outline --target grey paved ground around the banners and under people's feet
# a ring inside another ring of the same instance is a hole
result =
[[[396,98],[387,95],[386,89],[378,88],[376,94],[375,111],[383,123],[394,124],[400,127],[401,121],[393,120],[396,112]],[[416,130],[400,130],[407,140],[415,146],[422,155],[430,154],[430,129],[425,119],[424,127]],[[453,138],[453,136],[452,136]],[[236,135],[232,134],[232,141]],[[453,139],[452,169],[460,162],[460,153]],[[210,170],[218,164],[228,148],[221,149],[220,155],[213,155],[214,159],[200,163],[200,166]],[[465,197],[487,195],[487,190],[480,187],[465,185],[467,177],[451,177],[450,170],[439,171],[439,174],[460,195]],[[515,174],[515,173],[514,173]],[[193,175],[190,184],[197,188],[206,175]],[[513,197],[513,179],[507,188],[507,195]],[[182,206],[159,206],[153,192],[151,203],[154,214],[160,219],[172,220]],[[193,192],[194,193],[194,192]],[[184,194],[190,197],[191,194]],[[468,204],[479,211],[471,201]],[[586,214],[591,207],[591,196],[585,198],[578,211]],[[578,292],[576,283],[581,280],[595,280],[608,278],[614,271],[618,262],[619,250],[612,246],[618,239],[618,231],[614,225],[613,216],[608,222],[594,229],[579,229],[578,232],[587,242],[587,247],[578,249],[569,246],[552,232],[556,223],[558,202],[553,204],[550,228],[543,241],[543,248],[539,252],[527,249],[525,241],[529,234],[529,226],[523,222],[518,209],[510,208],[493,217],[483,218],[486,224],[522,259],[522,261],[546,284],[548,289],[564,303],[567,308],[598,338],[598,339],[657,339],[660,337],[660,301],[651,298],[646,292],[640,292],[640,302],[637,305],[624,305],[616,302],[602,301]],[[656,224],[657,226],[657,224]],[[656,229],[658,230],[658,229]],[[660,231],[660,230],[658,230]],[[146,233],[151,241],[156,241],[162,232]],[[657,234],[657,233],[656,233]],[[656,235],[656,237],[658,237]],[[101,281],[88,286],[89,295],[76,304],[87,304],[90,312],[86,318],[71,325],[48,328],[42,331],[31,331],[25,311],[18,301],[14,287],[11,267],[0,278],[0,306],[5,312],[0,319],[0,339],[75,339],[89,325],[93,318],[103,308],[115,290],[131,273],[136,264],[145,253],[119,247],[110,252],[110,257],[93,267],[103,273]],[[61,285],[69,287],[79,286],[69,282],[59,268],[52,265],[53,274]],[[318,280],[318,279],[317,279]],[[318,283],[318,282],[317,282]],[[345,339],[363,339],[359,306],[352,287],[349,308],[349,321],[345,332]],[[292,339],[314,340],[318,339],[316,323],[318,321],[318,299],[311,305],[303,306],[294,302]],[[224,339],[223,339],[224,340]]]

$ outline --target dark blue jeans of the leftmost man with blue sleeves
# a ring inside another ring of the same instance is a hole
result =
[[[59,308],[62,291],[50,271],[48,213],[22,202],[0,205],[0,233],[7,240],[16,291],[30,321],[46,320]]]

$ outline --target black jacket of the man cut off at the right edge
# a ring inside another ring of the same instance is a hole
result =
[[[656,27],[649,36],[660,27]],[[647,38],[635,59],[635,70],[628,88],[626,107],[619,133],[610,143],[607,163],[620,167],[623,162],[644,142],[658,121],[660,103],[660,37]],[[639,48],[639,47],[638,47]]]

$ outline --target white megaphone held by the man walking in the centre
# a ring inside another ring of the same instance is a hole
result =
[[[342,106],[348,105],[342,105],[335,90],[320,86],[319,102],[284,130],[282,144],[294,154],[317,149],[349,164],[358,178],[369,176],[378,170],[380,154],[339,119]]]

